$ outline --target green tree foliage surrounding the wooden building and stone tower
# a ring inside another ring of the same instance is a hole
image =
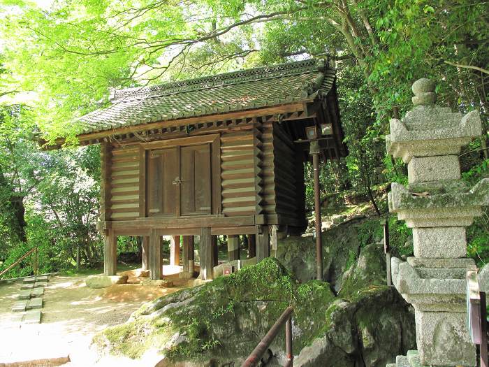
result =
[[[57,0],[41,8],[0,1],[0,260],[13,261],[17,246],[45,243],[52,268],[61,266],[57,259],[73,262],[77,248],[85,264],[100,261],[96,148],[42,152],[31,140],[76,144],[83,127],[68,122],[105,106],[112,88],[325,57],[337,69],[349,157],[323,164],[321,196],[351,191],[374,199],[375,187],[407,181],[406,167],[385,153],[388,120],[411,108],[412,82],[430,77],[441,105],[479,108],[484,135],[460,159],[465,179],[487,177],[488,6]],[[312,208],[310,166],[305,178]],[[469,254],[479,263],[489,256],[486,233],[484,219],[468,232]]]

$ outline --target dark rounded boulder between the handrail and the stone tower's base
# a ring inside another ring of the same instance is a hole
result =
[[[416,348],[414,315],[393,288],[370,287],[326,310],[321,332],[294,366],[384,367]]]

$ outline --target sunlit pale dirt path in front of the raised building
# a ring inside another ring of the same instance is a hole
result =
[[[89,345],[96,332],[126,322],[146,301],[187,287],[187,281],[180,280],[177,271],[178,267],[163,269],[165,278],[175,284],[172,288],[143,287],[134,271],[120,273],[129,275],[129,284],[103,289],[87,287],[86,276],[53,276],[45,288],[41,324],[22,327],[13,322],[15,314],[10,311],[21,282],[0,285],[0,362],[69,354],[71,363],[65,366],[148,366],[144,361],[112,357],[98,360]]]

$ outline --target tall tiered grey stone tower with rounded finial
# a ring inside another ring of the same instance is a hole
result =
[[[435,83],[413,85],[414,109],[391,120],[387,151],[408,165],[409,185],[393,183],[389,210],[413,229],[414,257],[393,258],[393,284],[414,306],[417,352],[391,366],[476,366],[466,325],[465,228],[489,205],[489,179],[460,180],[460,148],[482,134],[477,111],[463,116],[435,105]]]

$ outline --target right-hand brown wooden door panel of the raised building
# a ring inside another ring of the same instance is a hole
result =
[[[180,154],[181,215],[210,214],[210,145],[182,147]]]

